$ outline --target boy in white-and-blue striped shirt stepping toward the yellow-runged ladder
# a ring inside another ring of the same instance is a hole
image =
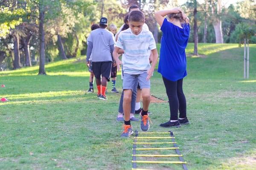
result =
[[[113,51],[113,58],[116,61],[117,69],[122,64],[123,70],[123,110],[124,110],[124,131],[121,137],[129,137],[133,131],[130,122],[131,95],[134,86],[138,82],[142,89],[143,109],[140,112],[141,130],[149,129],[148,107],[150,103],[150,78],[157,63],[157,49],[152,33],[143,29],[145,16],[143,12],[132,11],[128,17],[129,29],[120,32],[116,47]],[[118,58],[118,52],[123,49],[122,61]],[[153,61],[150,65],[150,50],[153,54]]]

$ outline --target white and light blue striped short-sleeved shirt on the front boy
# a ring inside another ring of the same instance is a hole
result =
[[[142,29],[140,34],[135,35],[131,29],[126,29],[118,35],[116,46],[123,49],[122,55],[123,72],[137,75],[150,69],[150,50],[156,49],[156,43],[152,33]]]

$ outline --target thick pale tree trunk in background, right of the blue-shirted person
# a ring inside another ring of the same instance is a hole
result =
[[[215,32],[216,43],[223,43],[221,28],[221,0],[211,0],[212,5],[212,24]]]

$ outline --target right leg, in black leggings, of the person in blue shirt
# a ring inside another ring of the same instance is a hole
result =
[[[183,78],[177,81],[177,95],[179,100],[180,118],[186,118],[186,98],[183,93]]]

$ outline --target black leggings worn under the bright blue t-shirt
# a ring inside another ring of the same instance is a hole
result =
[[[163,83],[169,99],[170,120],[178,120],[178,110],[180,118],[186,118],[186,98],[182,90],[183,78],[178,81],[170,81],[163,77]]]

